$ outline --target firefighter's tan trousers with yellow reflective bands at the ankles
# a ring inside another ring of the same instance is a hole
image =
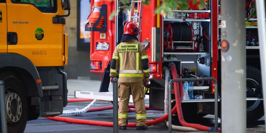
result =
[[[127,111],[130,92],[132,93],[133,102],[136,112],[136,125],[144,126],[146,122],[146,109],[145,109],[145,90],[143,82],[137,83],[119,83],[118,85],[118,97],[119,97],[119,109],[118,109],[118,121],[120,126],[126,125]]]

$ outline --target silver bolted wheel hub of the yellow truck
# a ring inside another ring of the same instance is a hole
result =
[[[14,123],[19,121],[22,113],[22,103],[17,93],[7,91],[6,94],[7,121]]]

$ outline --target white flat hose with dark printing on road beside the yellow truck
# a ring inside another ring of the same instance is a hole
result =
[[[78,109],[74,109],[74,110],[64,110],[63,113],[59,116],[74,116],[74,115],[78,115],[78,114],[82,114],[82,113],[86,113],[90,108],[92,108],[99,100],[98,99],[94,99],[89,105],[87,105],[85,108],[78,110]]]

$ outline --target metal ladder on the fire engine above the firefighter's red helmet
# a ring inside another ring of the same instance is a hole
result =
[[[137,7],[137,13],[134,12],[135,9],[135,3],[137,3],[138,7]],[[141,28],[142,25],[142,10],[143,10],[143,4],[141,1],[131,1],[131,15],[130,15],[130,21],[131,22],[135,22],[137,23],[137,25],[139,26],[139,28]],[[135,13],[135,14],[134,14]],[[137,22],[136,22],[137,21]],[[140,40],[140,34],[141,34],[141,30],[139,31],[138,34],[138,39]]]

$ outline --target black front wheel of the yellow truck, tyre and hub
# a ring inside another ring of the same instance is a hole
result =
[[[24,132],[27,124],[27,95],[18,76],[12,72],[0,73],[0,80],[4,81],[7,131],[9,133]]]

